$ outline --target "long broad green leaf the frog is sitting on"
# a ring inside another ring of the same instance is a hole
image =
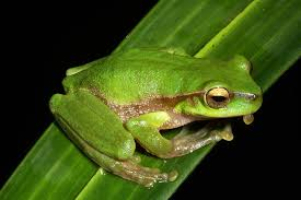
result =
[[[176,46],[197,57],[243,54],[264,90],[301,55],[298,0],[161,0],[117,48]],[[212,148],[145,165],[177,169],[172,183],[146,189],[98,170],[52,124],[2,188],[0,199],[167,199]]]

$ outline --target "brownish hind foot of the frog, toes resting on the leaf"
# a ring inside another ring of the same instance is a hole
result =
[[[152,187],[155,183],[174,181],[178,175],[175,170],[164,173],[158,168],[143,167],[132,161],[115,161],[114,164],[114,167],[110,169],[112,173],[145,187]]]

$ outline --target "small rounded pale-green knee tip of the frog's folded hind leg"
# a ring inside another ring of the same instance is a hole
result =
[[[128,160],[134,155],[135,149],[136,143],[134,139],[127,139],[118,145],[117,158],[119,160]]]

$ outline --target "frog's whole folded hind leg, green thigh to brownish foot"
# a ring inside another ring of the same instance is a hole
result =
[[[50,107],[70,139],[104,169],[147,187],[175,178],[174,173],[162,173],[134,161],[134,138],[116,114],[90,92],[56,94]]]

